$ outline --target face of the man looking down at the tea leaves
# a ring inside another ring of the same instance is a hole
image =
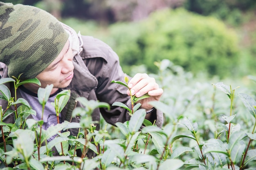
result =
[[[40,87],[45,88],[50,84],[54,85],[53,88],[67,87],[74,76],[73,57],[70,43],[67,40],[58,57],[43,72],[36,76],[41,82]]]

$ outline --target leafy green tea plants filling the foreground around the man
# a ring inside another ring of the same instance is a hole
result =
[[[116,127],[101,119],[101,129],[97,131],[90,114],[97,107],[109,105],[77,98],[85,109],[78,107],[73,115],[79,115],[81,122],[63,122],[45,131],[41,129],[41,120],[27,119],[30,114],[35,114],[31,106],[22,98],[12,98],[3,85],[13,82],[18,87],[24,83],[39,82],[36,79],[23,82],[12,78],[0,79],[1,100],[8,100],[9,106],[20,105],[15,111],[1,108],[0,136],[3,141],[0,143],[0,168],[253,169],[256,166],[256,101],[253,89],[216,83],[219,81],[216,78],[205,81],[204,75],[193,76],[169,60],[155,64],[159,72],[151,76],[164,89],[164,95],[161,102],[151,104],[164,113],[162,129],[144,120],[146,111],[138,109],[129,121],[118,122]],[[255,77],[250,78],[256,80]],[[38,90],[38,100],[42,105],[51,90],[51,85]],[[69,95],[70,92],[65,90],[56,96],[52,104],[56,114]],[[7,116],[13,115],[14,124],[4,123]],[[142,124],[144,127],[141,129]],[[72,128],[80,128],[77,136],[71,136],[68,131],[60,132]],[[43,141],[56,133],[58,136],[43,146]],[[53,156],[51,149],[54,146],[60,156]],[[89,149],[96,154],[92,159],[85,156]],[[76,155],[77,150],[81,150],[81,157]]]

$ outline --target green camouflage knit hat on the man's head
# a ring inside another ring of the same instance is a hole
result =
[[[60,54],[68,34],[42,9],[0,2],[0,62],[9,77],[35,78]]]

